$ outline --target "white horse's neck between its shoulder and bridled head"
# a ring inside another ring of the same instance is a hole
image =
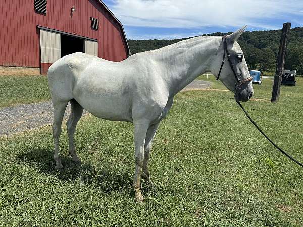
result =
[[[174,96],[195,78],[210,70],[210,63],[220,45],[219,37],[196,37],[155,52],[162,65],[161,77],[169,96]]]

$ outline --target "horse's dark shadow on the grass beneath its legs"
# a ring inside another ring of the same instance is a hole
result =
[[[61,156],[64,168],[61,171],[55,171],[53,155],[54,151],[51,149],[33,148],[24,154],[18,155],[16,159],[20,164],[31,166],[41,173],[55,176],[62,182],[80,181],[87,185],[97,185],[99,189],[106,193],[118,191],[134,195],[132,190],[133,173],[116,173],[109,166],[96,169],[89,163],[75,164],[71,161],[71,158],[66,156]],[[143,181],[141,182],[143,193],[155,191],[154,187],[147,186]]]

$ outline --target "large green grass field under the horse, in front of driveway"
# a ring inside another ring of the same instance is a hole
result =
[[[205,79],[201,76],[199,79]],[[224,88],[209,79],[212,88]],[[271,80],[254,85],[270,99]],[[280,102],[244,103],[262,129],[303,161],[303,79]],[[228,91],[178,94],[150,161],[155,187],[136,204],[133,126],[80,120],[78,167],[61,137],[55,172],[51,127],[0,139],[0,226],[302,226],[303,171],[248,122]]]

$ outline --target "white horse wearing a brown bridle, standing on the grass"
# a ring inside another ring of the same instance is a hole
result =
[[[242,29],[228,35],[228,51],[240,79],[250,75],[237,39]],[[56,168],[63,168],[59,155],[61,124],[68,102],[72,111],[67,121],[69,153],[80,161],[74,132],[83,109],[112,121],[134,124],[135,200],[142,201],[140,176],[151,183],[148,162],[160,121],[172,107],[174,96],[196,77],[219,73],[223,56],[222,37],[200,36],[158,50],[137,53],[122,62],[111,62],[84,53],[73,53],[56,61],[48,70],[48,84],[54,106],[53,137]],[[222,68],[220,80],[247,101],[253,93],[251,81],[235,89],[236,79],[230,65]]]

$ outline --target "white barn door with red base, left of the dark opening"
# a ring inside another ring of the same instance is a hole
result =
[[[41,73],[46,74],[49,66],[61,58],[60,34],[40,29]]]

